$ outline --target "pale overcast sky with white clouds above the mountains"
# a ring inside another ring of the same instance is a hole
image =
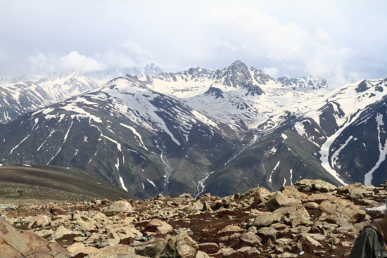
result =
[[[334,86],[387,77],[387,1],[0,0],[0,76],[222,69]]]

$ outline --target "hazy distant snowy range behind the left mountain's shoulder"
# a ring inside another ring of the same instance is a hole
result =
[[[152,63],[146,67],[108,67],[95,72],[50,72],[44,76],[0,77],[0,123],[96,89],[110,79],[126,73],[157,75],[160,72],[163,72],[160,67]]]

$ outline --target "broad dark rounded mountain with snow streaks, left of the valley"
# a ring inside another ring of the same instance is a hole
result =
[[[78,167],[144,197],[194,193],[241,144],[227,124],[129,75],[0,130],[1,162]]]

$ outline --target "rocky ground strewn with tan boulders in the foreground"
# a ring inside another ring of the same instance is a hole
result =
[[[348,257],[387,185],[304,179],[275,193],[158,195],[1,210],[0,257]]]

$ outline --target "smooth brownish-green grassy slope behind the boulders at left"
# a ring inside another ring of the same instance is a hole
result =
[[[80,169],[5,163],[0,167],[0,195],[6,196],[18,190],[23,191],[19,197],[36,199],[136,198]]]

